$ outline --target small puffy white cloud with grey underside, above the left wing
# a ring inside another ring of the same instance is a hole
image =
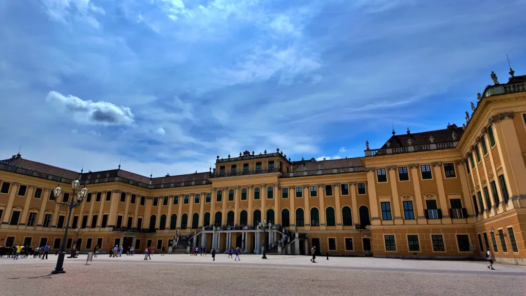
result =
[[[55,91],[47,94],[46,102],[59,106],[63,112],[73,115],[75,121],[83,124],[129,126],[135,121],[130,108],[109,102],[83,101],[79,97],[64,96]]]

